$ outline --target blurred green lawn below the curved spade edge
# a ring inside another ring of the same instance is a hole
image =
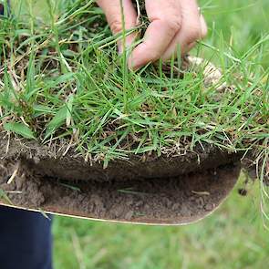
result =
[[[56,268],[267,268],[269,236],[258,184],[234,189],[222,208],[183,227],[54,221]]]

